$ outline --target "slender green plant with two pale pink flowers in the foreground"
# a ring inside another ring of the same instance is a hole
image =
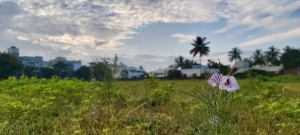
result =
[[[227,75],[213,73],[207,80],[207,84],[202,87],[200,93],[186,93],[198,99],[200,106],[190,106],[195,108],[204,117],[202,120],[203,128],[195,132],[201,134],[232,134],[239,120],[239,111],[232,112],[231,106],[234,92],[240,87],[232,75],[238,70],[233,65]],[[182,127],[183,128],[183,127]],[[185,128],[183,128],[185,129]],[[186,129],[188,130],[188,129]],[[191,131],[191,130],[189,130]]]

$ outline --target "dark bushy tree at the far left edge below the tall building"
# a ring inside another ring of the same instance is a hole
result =
[[[6,79],[8,76],[18,76],[23,65],[18,60],[7,53],[0,52],[0,79]]]

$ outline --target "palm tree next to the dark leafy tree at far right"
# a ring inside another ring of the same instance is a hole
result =
[[[280,50],[275,48],[273,45],[268,48],[269,50],[265,51],[266,61],[271,63],[271,65],[278,65],[280,61],[278,60],[280,56]]]

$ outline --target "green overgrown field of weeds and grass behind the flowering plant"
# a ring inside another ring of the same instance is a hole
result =
[[[240,110],[236,133],[300,134],[299,77],[238,82],[236,96],[262,94],[235,100],[233,111]],[[197,100],[178,90],[200,93],[204,84],[10,77],[0,81],[0,134],[196,134],[180,126],[203,131],[199,112],[187,106],[197,106]]]

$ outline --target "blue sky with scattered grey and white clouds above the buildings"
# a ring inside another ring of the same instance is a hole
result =
[[[228,51],[274,45],[300,47],[300,0],[0,0],[0,51],[82,64],[113,57],[146,71],[164,68],[206,37],[209,56],[228,64]]]

